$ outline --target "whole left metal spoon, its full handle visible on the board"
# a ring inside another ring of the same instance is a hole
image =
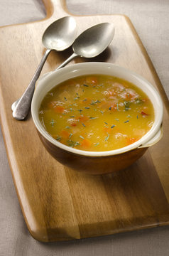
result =
[[[26,118],[28,111],[31,106],[31,100],[33,97],[33,92],[35,90],[36,81],[39,78],[45,60],[51,50],[65,50],[69,48],[75,41],[75,36],[77,34],[77,26],[75,19],[70,16],[65,16],[58,19],[48,26],[48,28],[43,33],[42,42],[45,48],[45,54],[40,61],[36,73],[28,85],[26,91],[23,93],[22,97],[16,102],[13,102],[11,109],[13,110],[13,117],[18,120],[23,120]]]

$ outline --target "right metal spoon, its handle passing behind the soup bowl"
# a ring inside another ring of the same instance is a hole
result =
[[[84,58],[94,58],[95,56],[102,53],[102,51],[104,51],[107,46],[109,46],[113,37],[114,25],[112,23],[99,23],[95,26],[92,26],[91,28],[88,28],[75,39],[75,42],[72,45],[74,53],[72,53],[72,55],[67,58],[67,60],[65,60],[65,62],[62,63],[56,70],[64,67],[77,56]],[[32,96],[33,95],[31,95],[31,97]],[[24,110],[24,114],[20,115],[21,119],[19,120],[23,120],[26,117],[25,113],[28,113],[29,107],[30,105],[28,105],[27,110]],[[18,106],[16,109],[17,108]],[[16,111],[16,109],[14,111]]]

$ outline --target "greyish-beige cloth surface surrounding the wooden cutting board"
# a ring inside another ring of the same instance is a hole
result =
[[[77,15],[129,16],[169,97],[168,0],[67,0],[67,8]],[[40,0],[9,0],[7,3],[0,0],[0,11],[0,26],[45,17],[45,9]],[[169,255],[168,227],[71,242],[43,244],[34,240],[23,220],[2,135],[0,139],[0,255]]]

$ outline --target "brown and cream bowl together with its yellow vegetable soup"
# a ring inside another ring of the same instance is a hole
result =
[[[126,169],[162,137],[157,90],[111,63],[78,63],[45,74],[31,113],[45,149],[87,174]]]

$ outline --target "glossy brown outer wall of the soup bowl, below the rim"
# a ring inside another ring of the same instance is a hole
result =
[[[148,148],[138,148],[114,156],[82,156],[70,151],[60,149],[49,142],[38,132],[45,149],[56,159],[67,167],[82,171],[85,174],[110,174],[114,171],[126,169],[139,159]]]

